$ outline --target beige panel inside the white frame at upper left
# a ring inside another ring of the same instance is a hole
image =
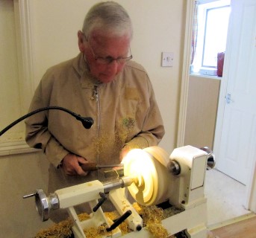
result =
[[[19,70],[16,51],[16,33],[13,2],[0,1],[0,129],[21,116]],[[8,103],[7,103],[8,102]],[[24,139],[22,124],[1,136],[0,143]]]

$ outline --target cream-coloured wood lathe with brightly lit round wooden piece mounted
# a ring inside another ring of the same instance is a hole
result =
[[[210,158],[210,159],[209,159]],[[205,173],[207,161],[213,158],[205,149],[186,146],[173,150],[171,155],[160,147],[132,149],[123,159],[124,176],[102,183],[95,180],[56,190],[48,197],[43,190],[36,190],[37,210],[43,220],[49,219],[51,210],[66,208],[72,219],[75,238],[85,238],[84,229],[104,225],[111,237],[150,237],[143,228],[143,217],[127,199],[125,187],[138,204],[159,205],[163,202],[182,211],[162,220],[169,235],[183,232],[192,238],[207,237],[207,199],[205,198]],[[113,224],[104,215],[101,205],[107,199],[119,212]],[[25,197],[29,197],[25,196]],[[92,212],[81,222],[74,206],[87,202]],[[118,225],[126,220],[131,232],[122,234]],[[107,236],[106,236],[107,237]]]

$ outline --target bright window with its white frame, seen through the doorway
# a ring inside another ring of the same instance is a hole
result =
[[[216,75],[217,54],[226,48],[230,1],[199,1],[191,73]]]

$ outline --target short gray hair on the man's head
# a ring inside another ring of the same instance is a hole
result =
[[[114,36],[132,37],[131,19],[127,11],[115,1],[95,4],[84,19],[83,32],[87,39],[93,30],[102,30]]]

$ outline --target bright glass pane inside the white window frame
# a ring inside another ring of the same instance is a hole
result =
[[[207,10],[202,66],[216,67],[217,54],[225,51],[230,7]]]

